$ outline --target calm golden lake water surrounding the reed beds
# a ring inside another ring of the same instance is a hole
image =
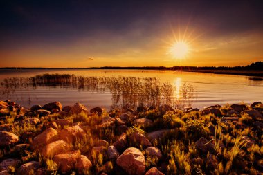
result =
[[[199,108],[212,104],[263,101],[263,81],[249,80],[248,76],[241,75],[134,70],[0,70],[0,81],[6,77],[31,77],[44,73],[68,73],[87,77],[157,77],[161,82],[174,84],[176,95],[179,95],[181,84],[186,82],[194,86],[197,97],[194,99],[193,106]],[[30,107],[33,104],[44,105],[55,101],[62,102],[62,105],[73,105],[75,102],[80,102],[88,109],[92,107],[109,109],[112,102],[109,91],[97,93],[71,87],[46,86],[40,86],[36,89],[17,89],[9,96],[0,95],[0,100],[7,99],[14,100],[24,107]]]

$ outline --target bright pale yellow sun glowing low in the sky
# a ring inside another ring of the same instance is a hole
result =
[[[189,53],[189,45],[183,41],[175,42],[169,48],[168,53],[176,59],[183,59]]]

